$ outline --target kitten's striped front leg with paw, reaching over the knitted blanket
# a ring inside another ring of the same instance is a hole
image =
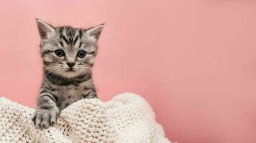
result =
[[[56,122],[59,114],[55,97],[50,93],[43,92],[37,99],[37,109],[32,121],[40,129],[47,128]]]

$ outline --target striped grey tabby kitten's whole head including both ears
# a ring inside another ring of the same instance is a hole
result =
[[[40,51],[45,74],[73,78],[91,73],[103,24],[91,29],[53,28],[37,20],[37,26],[42,39]]]

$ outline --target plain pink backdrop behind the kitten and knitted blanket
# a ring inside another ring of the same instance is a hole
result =
[[[147,99],[166,136],[188,143],[256,142],[256,2],[1,1],[0,95],[29,107],[42,77],[35,17],[106,23],[93,78],[100,99]]]

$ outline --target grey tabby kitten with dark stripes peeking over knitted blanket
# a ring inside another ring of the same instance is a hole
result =
[[[56,122],[60,111],[83,98],[97,97],[91,68],[104,24],[90,29],[53,27],[37,19],[44,76],[32,118],[42,129]]]

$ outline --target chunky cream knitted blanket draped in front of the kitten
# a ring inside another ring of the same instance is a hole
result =
[[[64,109],[57,124],[36,129],[35,109],[0,98],[0,142],[170,143],[142,97],[119,94],[109,102],[82,99]]]

